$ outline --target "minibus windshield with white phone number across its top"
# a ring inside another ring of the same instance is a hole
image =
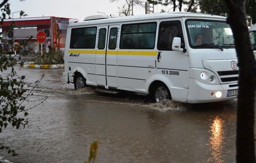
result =
[[[186,26],[192,48],[234,48],[233,33],[226,22],[187,20]]]

